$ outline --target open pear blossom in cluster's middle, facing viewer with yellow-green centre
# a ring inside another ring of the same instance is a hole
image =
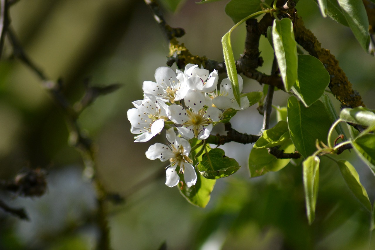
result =
[[[180,124],[177,131],[186,139],[197,137],[198,140],[210,136],[213,122],[220,120],[222,112],[215,107],[206,107],[205,98],[196,90],[189,90],[184,98],[186,108],[174,104],[168,107],[169,119]]]

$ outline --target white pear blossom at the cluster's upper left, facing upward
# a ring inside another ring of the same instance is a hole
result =
[[[144,81],[144,93],[161,98],[165,102],[174,103],[184,98],[189,89],[184,81],[177,79],[177,74],[168,67],[159,67],[155,71],[155,80]]]

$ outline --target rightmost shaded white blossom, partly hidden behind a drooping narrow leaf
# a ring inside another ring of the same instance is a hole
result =
[[[240,75],[237,75],[238,77],[238,84],[240,92],[242,92],[243,88],[243,80]],[[233,88],[231,81],[229,78],[225,78],[220,83],[220,92],[213,93],[211,95],[213,97],[212,104],[220,109],[228,109],[228,108],[234,108],[235,110],[244,110],[249,107],[249,99],[247,96],[241,97],[241,107],[238,105],[236,98],[234,98],[233,94]]]

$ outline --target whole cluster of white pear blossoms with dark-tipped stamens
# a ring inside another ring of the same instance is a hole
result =
[[[155,80],[143,82],[144,99],[132,102],[135,108],[127,111],[131,123],[131,133],[137,134],[134,142],[147,142],[164,127],[169,143],[156,143],[146,152],[151,160],[169,160],[166,167],[168,187],[174,187],[180,181],[178,173],[184,174],[187,187],[196,183],[196,173],[189,158],[188,140],[207,139],[216,123],[220,122],[223,110],[234,108],[243,110],[249,107],[245,96],[241,107],[237,104],[231,82],[223,79],[220,91],[217,90],[217,71],[209,72],[198,65],[186,65],[184,72],[174,72],[168,67],[156,69]],[[242,78],[239,76],[242,91]],[[178,134],[174,132],[177,130]],[[179,167],[177,172],[177,167]]]

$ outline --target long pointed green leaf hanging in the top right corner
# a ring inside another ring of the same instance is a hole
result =
[[[362,48],[369,53],[369,20],[363,2],[360,0],[338,0],[338,3],[354,36]]]

